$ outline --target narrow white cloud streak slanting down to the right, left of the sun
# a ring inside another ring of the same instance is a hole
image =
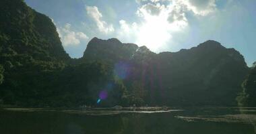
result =
[[[108,34],[110,32],[115,31],[112,24],[108,25],[106,21],[102,20],[102,14],[98,11],[98,7],[96,6],[86,6],[87,14],[92,17],[92,19],[96,22],[98,29],[104,34]]]

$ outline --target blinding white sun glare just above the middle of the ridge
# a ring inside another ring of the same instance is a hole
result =
[[[174,31],[180,31],[187,25],[187,21],[174,21],[170,23],[168,16],[171,8],[163,10],[159,15],[151,15],[143,12],[143,23],[137,28],[137,42],[141,46],[147,46],[150,50],[158,52],[171,39]]]

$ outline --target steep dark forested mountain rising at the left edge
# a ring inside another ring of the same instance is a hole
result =
[[[0,1],[0,9],[0,103],[23,105],[38,94],[46,74],[71,58],[49,17],[21,0]]]

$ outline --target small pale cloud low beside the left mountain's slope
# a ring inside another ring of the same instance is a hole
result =
[[[64,27],[57,27],[57,31],[63,46],[78,46],[82,40],[88,40],[88,36],[83,32],[72,31],[70,23],[66,23]]]

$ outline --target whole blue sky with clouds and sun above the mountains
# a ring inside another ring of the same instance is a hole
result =
[[[25,0],[49,16],[65,51],[82,57],[94,38],[117,38],[153,52],[178,52],[207,40],[256,61],[255,0]]]

